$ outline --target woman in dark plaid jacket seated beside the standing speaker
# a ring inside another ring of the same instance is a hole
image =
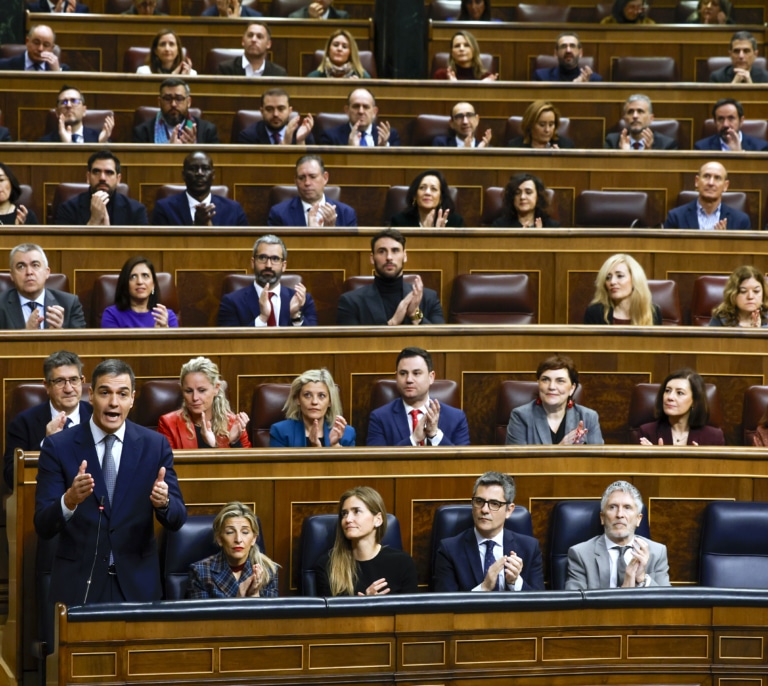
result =
[[[250,507],[227,503],[213,520],[218,553],[189,567],[186,597],[276,598],[278,565],[259,550],[259,522]]]

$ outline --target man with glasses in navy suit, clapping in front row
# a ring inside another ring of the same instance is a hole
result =
[[[504,528],[514,509],[515,481],[511,476],[486,472],[475,481],[475,526],[440,541],[435,591],[544,590],[539,542]]]

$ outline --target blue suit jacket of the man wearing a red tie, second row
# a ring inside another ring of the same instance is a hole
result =
[[[469,425],[462,410],[440,405],[438,427],[443,432],[440,445],[469,445]],[[411,419],[400,398],[376,408],[368,419],[366,445],[411,445]]]

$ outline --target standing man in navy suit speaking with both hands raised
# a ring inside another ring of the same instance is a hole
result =
[[[43,443],[34,522],[40,538],[59,535],[51,603],[162,596],[154,520],[177,531],[187,508],[168,440],[126,421],[135,387],[130,366],[104,360],[91,377],[90,421]]]

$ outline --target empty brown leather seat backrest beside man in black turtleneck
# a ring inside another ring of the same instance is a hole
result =
[[[449,324],[536,324],[539,303],[528,274],[459,274]]]

